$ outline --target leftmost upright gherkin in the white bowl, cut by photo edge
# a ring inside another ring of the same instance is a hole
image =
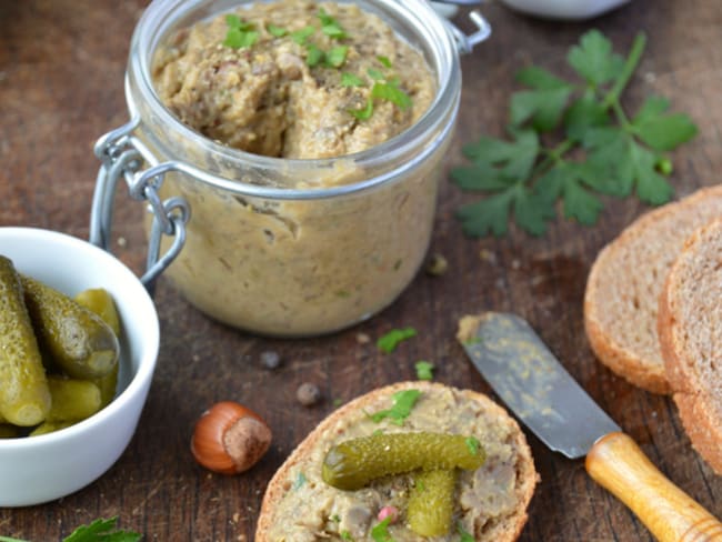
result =
[[[0,257],[0,415],[34,425],[50,410],[42,358],[13,263]]]

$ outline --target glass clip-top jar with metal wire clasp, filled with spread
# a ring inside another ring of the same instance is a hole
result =
[[[151,80],[164,39],[243,3],[157,0],[144,12],[126,79],[132,120],[97,145],[103,167],[91,240],[93,230],[109,235],[110,211],[99,202],[112,200],[112,190],[101,184],[124,175],[131,195],[154,210],[149,263],[173,244],[178,258],[166,274],[193,305],[260,334],[329,333],[382,310],[422,264],[459,108],[459,51],[489,29],[474,12],[479,32],[465,37],[424,0],[355,2],[422,52],[435,78],[433,102],[408,130],[369,150],[322,160],[269,158],[184,126]],[[170,258],[160,259],[156,274]]]

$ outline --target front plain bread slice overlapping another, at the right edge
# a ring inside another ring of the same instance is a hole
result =
[[[658,328],[684,430],[722,474],[722,213],[696,230],[674,261]]]

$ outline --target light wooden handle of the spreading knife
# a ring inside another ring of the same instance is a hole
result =
[[[609,433],[596,441],[586,472],[660,542],[722,541],[722,523],[665,478],[629,435]]]

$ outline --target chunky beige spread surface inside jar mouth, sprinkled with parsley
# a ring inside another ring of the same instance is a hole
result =
[[[178,31],[153,81],[183,123],[232,148],[332,158],[372,148],[429,108],[422,54],[353,3],[258,3]]]

